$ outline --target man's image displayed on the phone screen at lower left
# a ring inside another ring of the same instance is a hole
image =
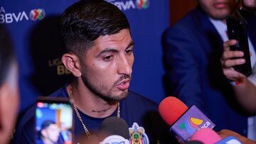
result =
[[[44,121],[41,126],[40,139],[36,143],[55,144],[60,136],[60,128],[54,121]]]

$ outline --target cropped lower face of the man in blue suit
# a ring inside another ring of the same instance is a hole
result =
[[[223,20],[235,9],[235,0],[198,0],[203,11],[214,19]]]

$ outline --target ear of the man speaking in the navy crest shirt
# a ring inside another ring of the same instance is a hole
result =
[[[80,60],[77,55],[73,53],[65,53],[62,57],[62,62],[75,77],[81,77]]]

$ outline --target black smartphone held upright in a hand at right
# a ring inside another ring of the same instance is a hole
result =
[[[245,59],[245,64],[235,65],[234,69],[248,77],[252,74],[252,66],[250,62],[250,50],[247,36],[247,21],[245,21],[245,18],[242,17],[238,10],[235,10],[232,15],[226,18],[226,22],[228,27],[228,38],[230,40],[238,40],[238,43],[231,46],[230,50],[239,50],[244,52],[244,56],[242,58]]]

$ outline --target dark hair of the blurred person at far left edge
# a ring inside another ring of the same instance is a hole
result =
[[[4,25],[0,25],[0,87],[6,80],[12,62],[14,62],[14,51],[9,33]]]

